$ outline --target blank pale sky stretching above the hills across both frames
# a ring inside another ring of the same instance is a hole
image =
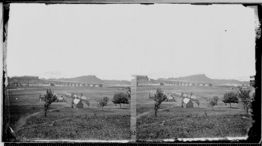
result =
[[[9,16],[9,76],[256,73],[254,10],[243,5],[12,3]]]

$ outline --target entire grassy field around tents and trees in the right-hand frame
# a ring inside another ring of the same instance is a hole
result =
[[[154,95],[160,87],[167,96],[173,91],[193,95],[200,105],[192,99],[193,108],[181,107],[181,98],[176,102],[162,102],[155,117],[154,100],[149,100],[149,93]],[[248,87],[253,90],[252,87]],[[247,90],[249,90],[247,89]],[[243,104],[225,105],[222,98],[225,92],[237,92],[212,86],[138,86],[137,88],[137,140],[161,141],[175,138],[223,138],[245,137],[252,126],[249,112],[245,114]],[[217,95],[219,102],[213,108],[208,106],[207,97]],[[245,116],[245,119],[243,118]]]

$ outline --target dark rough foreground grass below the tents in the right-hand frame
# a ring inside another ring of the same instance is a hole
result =
[[[247,119],[242,119],[242,116]],[[251,126],[252,118],[249,115],[233,113],[227,109],[175,107],[159,111],[157,117],[149,113],[137,119],[137,139],[246,136]]]

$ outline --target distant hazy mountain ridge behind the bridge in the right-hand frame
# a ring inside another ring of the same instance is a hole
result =
[[[217,83],[217,84],[249,84],[249,81],[239,81],[236,79],[211,79],[205,74],[196,74],[178,78],[159,78],[157,80],[188,81],[195,83]]]

